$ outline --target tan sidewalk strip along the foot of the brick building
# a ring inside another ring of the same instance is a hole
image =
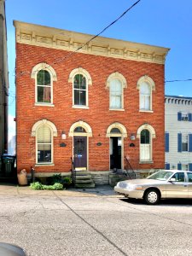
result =
[[[0,195],[38,195],[38,196],[73,196],[73,197],[120,197],[109,185],[98,185],[94,189],[32,190],[29,186],[0,183]]]

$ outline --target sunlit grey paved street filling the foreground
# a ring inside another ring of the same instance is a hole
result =
[[[148,206],[109,188],[65,192],[0,189],[0,241],[32,256],[192,254],[192,201]]]

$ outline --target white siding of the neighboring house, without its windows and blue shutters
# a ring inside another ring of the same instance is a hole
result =
[[[183,101],[184,100],[184,101]],[[192,133],[192,122],[178,121],[177,113],[192,113],[192,98],[166,96],[166,127],[169,133],[169,152],[166,152],[166,163],[170,169],[177,169],[177,164],[192,163],[192,152],[177,152],[177,133]]]

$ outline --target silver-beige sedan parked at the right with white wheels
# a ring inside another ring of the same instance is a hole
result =
[[[192,198],[192,172],[155,172],[147,178],[121,181],[114,190],[128,198],[144,199],[149,205],[161,198]]]

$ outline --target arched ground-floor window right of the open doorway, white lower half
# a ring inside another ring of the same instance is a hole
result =
[[[140,160],[151,160],[151,144],[150,144],[150,132],[147,129],[141,131],[140,138]]]

